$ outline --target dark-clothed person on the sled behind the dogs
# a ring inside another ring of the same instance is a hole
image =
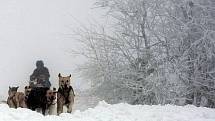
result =
[[[36,62],[36,69],[30,76],[29,85],[31,87],[51,87],[51,83],[49,81],[50,74],[47,67],[44,66],[42,60],[38,60]]]

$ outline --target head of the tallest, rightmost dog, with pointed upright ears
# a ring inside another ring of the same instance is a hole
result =
[[[62,88],[69,88],[70,86],[70,80],[71,80],[71,74],[66,77],[62,77],[61,74],[58,74],[59,77],[59,87]]]

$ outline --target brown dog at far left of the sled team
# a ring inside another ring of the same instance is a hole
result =
[[[7,104],[10,108],[26,108],[25,95],[23,92],[17,92],[19,87],[9,87]]]

